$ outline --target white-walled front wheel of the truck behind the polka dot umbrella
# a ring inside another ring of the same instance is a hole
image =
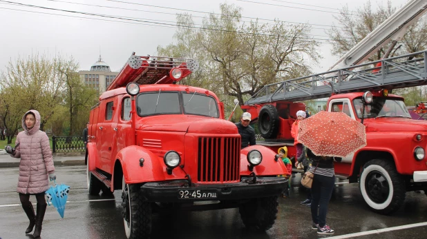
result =
[[[395,165],[387,160],[370,160],[363,166],[359,181],[360,191],[368,206],[379,214],[392,214],[404,204],[404,179]]]

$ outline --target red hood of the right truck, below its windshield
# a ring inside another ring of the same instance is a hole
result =
[[[427,121],[410,118],[366,119],[366,132],[426,132]]]

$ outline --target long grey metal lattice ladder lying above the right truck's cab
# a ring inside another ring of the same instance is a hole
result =
[[[411,60],[408,60],[411,59]],[[381,67],[372,67],[381,62]],[[427,50],[265,85],[245,105],[306,101],[334,94],[395,89],[427,83]]]

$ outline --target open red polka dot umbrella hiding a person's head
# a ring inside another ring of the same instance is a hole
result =
[[[365,126],[342,112],[319,112],[299,123],[298,142],[317,156],[345,157],[366,145]]]

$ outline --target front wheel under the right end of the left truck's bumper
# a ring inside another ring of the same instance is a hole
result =
[[[256,198],[240,205],[240,218],[247,229],[267,231],[274,225],[278,207],[277,198],[278,196]]]

